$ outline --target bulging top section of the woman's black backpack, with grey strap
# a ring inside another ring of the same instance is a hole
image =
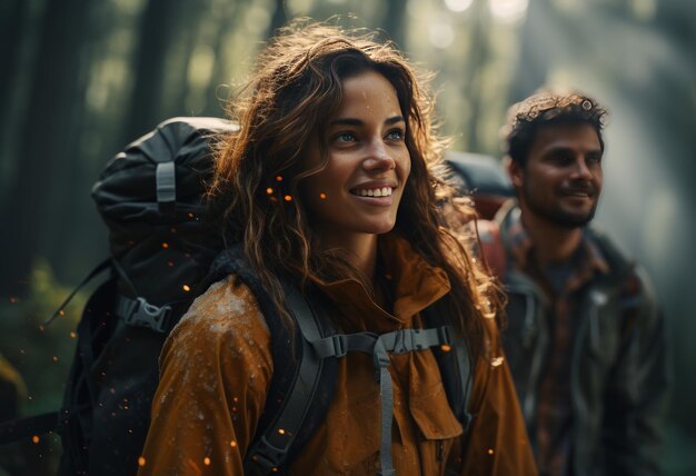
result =
[[[109,228],[118,314],[168,331],[221,248],[206,220],[216,137],[238,127],[217,118],[173,118],[111,159],[92,188]]]

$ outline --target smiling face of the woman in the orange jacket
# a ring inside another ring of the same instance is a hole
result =
[[[367,71],[344,80],[342,89],[324,138],[328,163],[301,185],[312,228],[332,246],[391,230],[410,172],[406,120],[391,83]],[[319,138],[304,160],[306,168],[321,162]]]

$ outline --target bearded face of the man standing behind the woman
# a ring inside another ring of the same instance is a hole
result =
[[[601,156],[590,125],[541,127],[525,167],[510,165],[523,210],[557,226],[585,226],[595,216],[601,191]]]

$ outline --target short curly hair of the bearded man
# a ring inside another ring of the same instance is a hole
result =
[[[590,125],[597,131],[604,151],[601,130],[606,119],[607,110],[589,96],[578,91],[545,89],[508,109],[501,136],[506,153],[524,167],[537,131],[545,126]]]

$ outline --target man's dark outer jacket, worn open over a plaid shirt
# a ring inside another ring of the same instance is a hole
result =
[[[504,207],[496,221],[508,296],[504,348],[534,445],[551,303],[538,282],[516,267],[510,252],[510,228],[521,225],[519,209],[514,204]],[[668,383],[665,323],[643,271],[601,234],[587,229],[585,239],[599,249],[608,271],[577,290],[570,310],[578,323],[570,339],[571,474],[658,474],[658,423]]]

